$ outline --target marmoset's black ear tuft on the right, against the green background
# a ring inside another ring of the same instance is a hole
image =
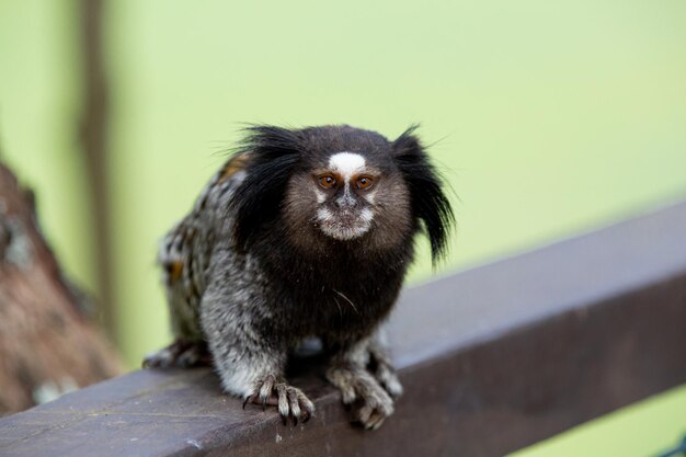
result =
[[[412,214],[424,222],[435,266],[445,258],[455,216],[436,169],[428,161],[419,138],[413,135],[416,128],[416,125],[408,128],[393,141],[393,159],[410,190]]]

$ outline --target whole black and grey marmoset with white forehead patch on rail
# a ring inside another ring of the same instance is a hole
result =
[[[434,263],[453,210],[414,128],[395,141],[351,126],[247,128],[238,151],[163,239],[175,343],[145,366],[190,366],[209,350],[227,392],[315,405],[284,377],[288,351],[321,339],[327,378],[376,429],[402,387],[380,342],[424,230]]]

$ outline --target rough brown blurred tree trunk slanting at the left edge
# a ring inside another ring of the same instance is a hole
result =
[[[0,164],[0,414],[122,372],[36,224],[33,193]]]

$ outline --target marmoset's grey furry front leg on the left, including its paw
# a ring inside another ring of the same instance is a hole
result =
[[[230,305],[203,304],[202,323],[224,389],[249,402],[276,405],[284,423],[307,422],[315,404],[284,377],[286,347],[270,344],[249,319],[230,316]],[[236,311],[236,309],[235,309]]]

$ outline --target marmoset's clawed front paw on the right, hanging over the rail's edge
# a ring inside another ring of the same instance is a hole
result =
[[[393,399],[366,369],[334,366],[327,372],[327,378],[339,388],[343,403],[353,408],[355,421],[365,429],[380,427],[393,413]]]

